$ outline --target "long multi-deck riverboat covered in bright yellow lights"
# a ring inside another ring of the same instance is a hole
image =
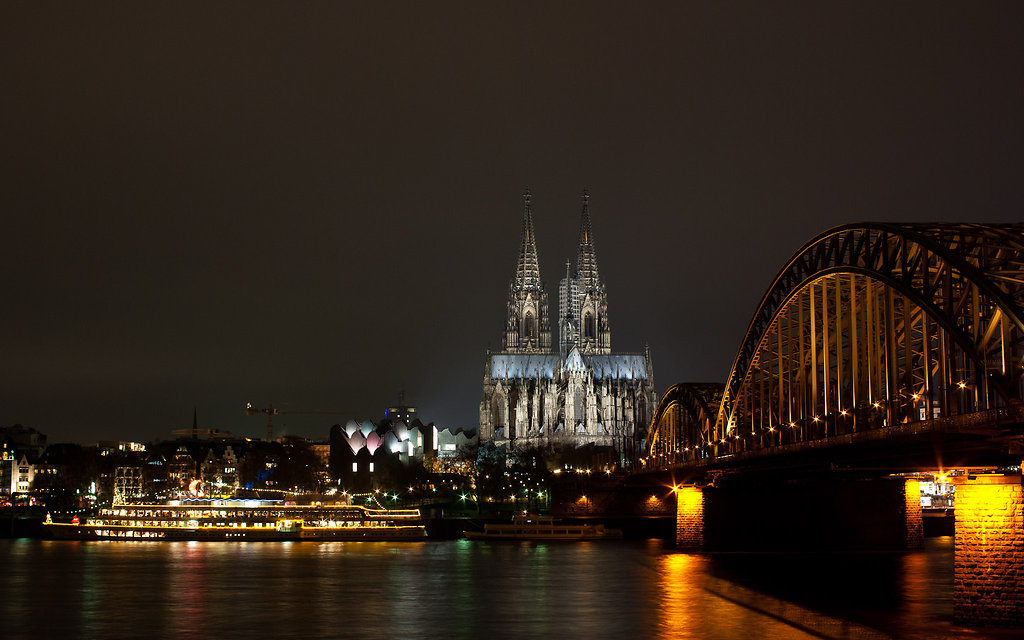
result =
[[[181,500],[166,505],[116,505],[85,522],[52,522],[61,540],[421,541],[418,509],[351,504],[294,505],[270,500]]]

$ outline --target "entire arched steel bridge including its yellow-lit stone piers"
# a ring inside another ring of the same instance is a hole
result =
[[[1024,224],[852,224],[771,283],[724,384],[665,394],[643,460],[681,547],[921,543],[914,472],[965,469],[955,614],[1024,625]]]

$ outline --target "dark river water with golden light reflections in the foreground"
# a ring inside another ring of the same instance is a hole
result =
[[[701,556],[653,540],[0,540],[0,637],[1015,637],[952,624],[952,539],[926,543]]]

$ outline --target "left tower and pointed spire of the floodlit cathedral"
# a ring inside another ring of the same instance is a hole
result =
[[[523,195],[523,205],[522,242],[515,276],[509,284],[508,311],[502,347],[512,353],[548,352],[551,350],[548,293],[544,290],[544,283],[541,282],[528,190]]]

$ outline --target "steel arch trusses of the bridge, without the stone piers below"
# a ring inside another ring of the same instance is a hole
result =
[[[840,226],[782,267],[724,385],[678,384],[646,467],[1024,399],[1024,224]]]

